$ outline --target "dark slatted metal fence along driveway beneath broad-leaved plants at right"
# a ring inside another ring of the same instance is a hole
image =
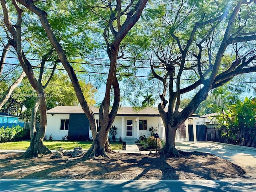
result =
[[[206,135],[208,141],[215,141],[233,145],[256,147],[256,128],[218,128],[207,126]]]

